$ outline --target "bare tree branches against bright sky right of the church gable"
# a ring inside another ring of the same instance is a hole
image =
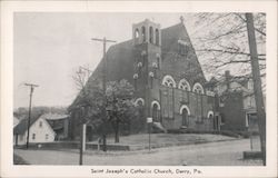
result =
[[[198,13],[198,29],[193,41],[203,69],[211,76],[219,76],[227,68],[238,76],[250,75],[250,52],[247,23],[244,13]],[[266,14],[254,18],[260,75],[266,69]]]

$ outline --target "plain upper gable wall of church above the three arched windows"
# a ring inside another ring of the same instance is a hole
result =
[[[206,82],[200,63],[182,22],[162,30],[162,70],[190,85]]]

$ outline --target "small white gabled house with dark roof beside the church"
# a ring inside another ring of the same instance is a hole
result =
[[[14,145],[26,145],[28,132],[28,118],[21,120],[13,129]],[[30,120],[29,142],[52,142],[56,132],[48,123],[43,115],[33,117]]]

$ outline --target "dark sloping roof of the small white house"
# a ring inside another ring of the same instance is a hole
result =
[[[32,113],[30,120],[30,127],[32,126],[36,120],[38,120],[42,113]],[[19,123],[13,128],[13,135],[23,135],[24,131],[28,129],[28,116],[26,116]]]

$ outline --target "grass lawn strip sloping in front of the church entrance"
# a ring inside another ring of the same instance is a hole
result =
[[[201,142],[215,142],[224,140],[235,140],[237,138],[222,136],[222,135],[209,135],[209,134],[151,134],[151,147],[170,147],[181,145],[193,145]],[[113,136],[108,137],[108,144],[115,144]],[[117,145],[129,145],[131,149],[147,148],[149,145],[149,135],[130,135],[121,136],[120,142]]]

